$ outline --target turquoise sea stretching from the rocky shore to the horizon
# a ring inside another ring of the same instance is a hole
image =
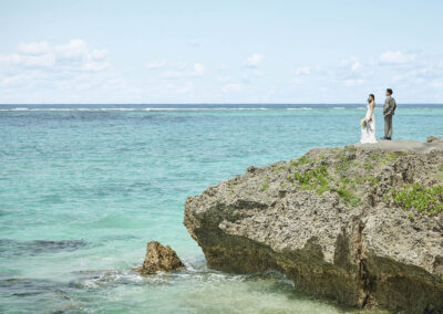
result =
[[[0,107],[0,312],[350,312],[279,274],[207,270],[182,223],[187,196],[250,165],[357,143],[364,115],[357,105],[253,107]],[[377,119],[379,137],[380,109]],[[443,137],[442,122],[443,106],[399,107],[394,137]],[[133,272],[154,239],[188,270]]]

